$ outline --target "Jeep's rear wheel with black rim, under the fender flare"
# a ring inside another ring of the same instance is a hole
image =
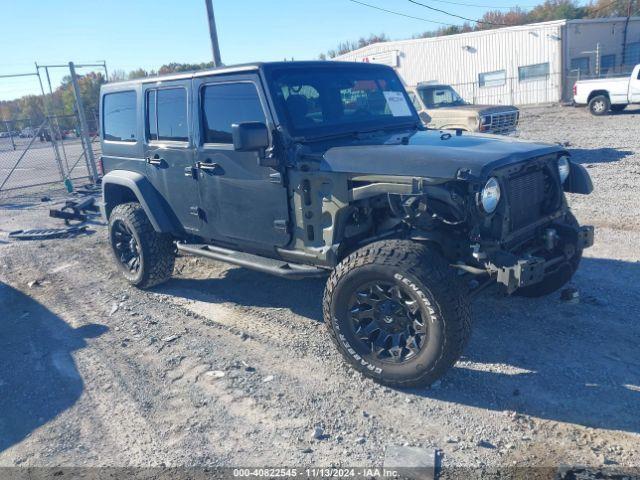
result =
[[[175,263],[170,235],[153,229],[139,203],[116,206],[109,216],[109,243],[124,277],[139,288],[171,278]]]

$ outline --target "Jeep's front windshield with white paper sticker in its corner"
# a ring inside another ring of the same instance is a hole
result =
[[[268,73],[276,108],[294,136],[417,123],[404,87],[386,67],[280,67]]]

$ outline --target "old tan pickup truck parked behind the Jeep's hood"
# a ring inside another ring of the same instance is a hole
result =
[[[450,85],[419,84],[409,87],[408,92],[420,118],[429,128],[510,134],[518,127],[518,108],[467,103]]]

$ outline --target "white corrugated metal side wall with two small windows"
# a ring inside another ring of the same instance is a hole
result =
[[[350,52],[337,60],[371,61],[372,55],[397,51],[397,70],[407,85],[429,80],[449,83],[473,103],[526,105],[557,102],[561,95],[561,30],[564,23],[546,22],[447,37],[386,42]],[[549,74],[546,77],[535,80],[519,77],[518,67],[547,62]],[[501,70],[505,71],[501,85],[479,85],[481,73]]]

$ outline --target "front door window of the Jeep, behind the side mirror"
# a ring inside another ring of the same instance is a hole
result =
[[[258,90],[253,83],[207,85],[202,91],[204,143],[232,143],[231,125],[265,122]]]

